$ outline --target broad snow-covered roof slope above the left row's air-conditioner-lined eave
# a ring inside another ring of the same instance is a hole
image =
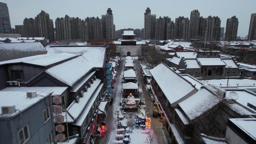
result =
[[[48,68],[46,73],[61,80],[69,86],[74,86],[78,80],[88,74],[92,69],[93,67],[83,58],[83,56],[78,56],[69,61],[55,65],[54,67]]]

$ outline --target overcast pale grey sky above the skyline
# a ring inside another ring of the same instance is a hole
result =
[[[227,18],[237,16],[238,36],[246,36],[249,30],[250,16],[256,13],[256,0],[1,0],[7,3],[12,28],[22,25],[24,18],[34,18],[41,10],[49,13],[50,18],[72,17],[85,19],[87,16],[106,14],[113,10],[116,30],[122,28],[143,28],[144,12],[150,7],[151,13],[169,16],[172,21],[179,16],[190,17],[193,9],[200,16],[219,16],[221,26],[226,27]]]

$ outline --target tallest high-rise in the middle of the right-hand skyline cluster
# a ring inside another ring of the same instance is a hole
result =
[[[193,10],[190,13],[189,21],[189,39],[198,39],[199,37],[199,25],[200,25],[200,12]]]

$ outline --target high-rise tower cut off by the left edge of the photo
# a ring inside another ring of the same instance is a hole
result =
[[[12,33],[10,25],[10,15],[6,3],[0,2],[0,33],[10,34]]]

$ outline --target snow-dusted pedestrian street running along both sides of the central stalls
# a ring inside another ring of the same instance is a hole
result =
[[[117,113],[116,111],[120,110],[119,106],[119,93],[121,93],[121,82],[122,82],[122,74],[124,71],[124,60],[120,63],[120,66],[118,68],[118,77],[116,77],[116,83],[114,84],[113,94],[112,98],[114,99],[114,102],[112,106],[108,106],[107,108],[107,117],[104,119],[106,121],[106,132],[105,136],[101,138],[97,138],[96,144],[114,144],[115,141],[115,134],[117,130]],[[159,121],[159,118],[153,117],[153,102],[150,98],[150,95],[146,89],[142,89],[142,85],[146,85],[144,77],[142,76],[140,72],[140,65],[138,64],[138,61],[134,61],[135,65],[135,72],[137,74],[137,80],[139,82],[139,90],[140,92],[143,92],[143,96],[141,99],[146,103],[144,105],[146,111],[147,111],[147,117],[151,117],[151,129],[149,130],[142,130],[142,129],[134,129],[133,134],[131,135],[131,144],[140,144],[140,143],[146,143],[146,144],[168,144],[167,139],[165,137],[166,133],[164,133],[164,130],[162,129],[162,123]],[[122,99],[122,96],[121,96]],[[126,118],[124,120],[121,120],[122,123],[126,123],[128,127],[132,127],[135,122],[135,112],[132,113],[132,116],[130,117],[130,114],[126,114]],[[143,138],[145,137],[145,138]]]

